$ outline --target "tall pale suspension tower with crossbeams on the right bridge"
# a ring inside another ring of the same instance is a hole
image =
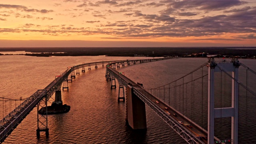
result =
[[[240,63],[233,58],[232,63],[217,65],[214,58],[208,59],[208,144],[214,143],[214,118],[225,117],[231,117],[231,144],[238,144],[238,67]],[[232,105],[227,108],[214,108],[214,72],[222,71],[232,72]]]

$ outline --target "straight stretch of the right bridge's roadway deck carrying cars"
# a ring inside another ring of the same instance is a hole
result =
[[[111,64],[114,64],[114,62]],[[208,141],[207,141],[208,133],[198,124],[196,124],[186,116],[182,115],[180,112],[178,112],[171,106],[168,106],[167,104],[165,104],[164,102],[162,102],[161,100],[159,100],[158,98],[156,98],[155,96],[153,96],[152,94],[144,90],[142,86],[133,82],[126,76],[120,74],[117,70],[114,70],[111,66],[107,66],[106,72],[109,72],[111,76],[114,76],[118,80],[119,84],[123,84],[126,87],[128,85],[132,86],[135,94],[140,99],[142,99],[142,101],[148,104],[150,108],[152,108],[164,121],[166,121],[188,143],[208,144]],[[160,112],[155,108],[158,109]],[[166,108],[168,108],[168,110],[166,110]],[[168,114],[168,112],[170,112],[170,115]],[[174,116],[173,114],[176,114],[177,116]],[[182,121],[183,124],[180,124],[178,121]],[[192,128],[189,128],[188,125],[192,126]],[[205,136],[206,139],[203,138],[202,136]],[[214,140],[219,141],[220,139],[214,137]]]

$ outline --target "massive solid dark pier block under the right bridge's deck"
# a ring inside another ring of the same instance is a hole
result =
[[[133,93],[132,87],[127,86],[126,120],[134,130],[146,129],[145,103]]]

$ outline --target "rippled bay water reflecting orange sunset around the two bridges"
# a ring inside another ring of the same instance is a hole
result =
[[[47,86],[56,75],[62,74],[68,66],[88,62],[107,60],[143,59],[145,57],[106,57],[106,56],[64,56],[64,57],[30,57],[30,56],[0,56],[1,97],[19,99],[27,98],[36,90]],[[240,60],[256,71],[255,60]],[[143,83],[145,87],[157,87],[172,82],[198,66],[207,62],[206,58],[179,58],[144,64],[131,64],[121,67],[134,82]],[[126,125],[126,103],[117,102],[117,89],[110,89],[110,81],[106,81],[105,67],[86,69],[76,75],[69,84],[69,91],[62,91],[64,104],[71,109],[66,114],[48,115],[50,136],[36,138],[37,117],[36,108],[18,125],[4,144],[24,143],[61,143],[61,144],[183,144],[185,141],[172,130],[158,115],[146,106],[146,131],[133,131]],[[175,74],[175,76],[174,76]],[[254,77],[255,78],[255,77]],[[255,78],[256,79],[256,78]],[[255,88],[255,87],[254,87]],[[255,98],[251,101],[255,102]],[[243,101],[244,102],[244,101]],[[4,106],[4,105],[2,105]],[[0,108],[2,108],[0,105]],[[256,120],[255,109],[250,111],[249,124]],[[244,109],[242,109],[244,113]],[[1,110],[0,110],[1,111]],[[253,113],[254,112],[254,113]],[[0,113],[2,118],[3,114]],[[247,115],[246,115],[247,116]],[[254,143],[255,128],[244,128],[246,119],[240,118],[239,143]],[[248,128],[250,131],[248,132]],[[246,137],[248,136],[248,137]],[[253,138],[254,137],[254,138]]]

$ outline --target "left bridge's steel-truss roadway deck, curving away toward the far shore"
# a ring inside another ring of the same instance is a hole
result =
[[[116,61],[102,61],[102,62],[92,62],[86,64],[79,64],[76,66],[68,67],[68,69],[63,72],[59,77],[53,80],[48,86],[43,90],[37,90],[29,98],[27,98],[22,104],[10,112],[0,121],[0,143],[4,142],[8,135],[22,122],[24,118],[33,110],[36,105],[38,105],[44,98],[48,101],[54,92],[61,88],[62,82],[66,80],[71,74],[72,71],[87,67],[87,66],[96,66],[100,64],[109,64],[111,62],[151,62],[157,60],[166,60],[168,58],[153,58],[153,59],[137,59],[137,60],[116,60]]]

